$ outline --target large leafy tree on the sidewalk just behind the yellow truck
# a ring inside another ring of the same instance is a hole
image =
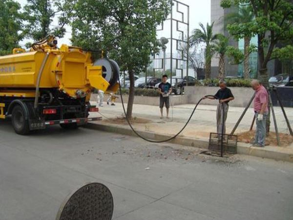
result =
[[[170,12],[169,0],[68,0],[72,43],[103,49],[129,74],[126,117],[131,118],[134,73],[145,70],[150,54],[158,51],[156,27]],[[84,10],[86,8],[86,10]]]

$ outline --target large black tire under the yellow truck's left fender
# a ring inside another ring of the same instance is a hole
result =
[[[12,114],[11,122],[14,131],[18,134],[25,135],[29,133],[28,119],[25,119],[24,110],[20,105],[15,105]]]

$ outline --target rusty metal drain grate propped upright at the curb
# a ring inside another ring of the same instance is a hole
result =
[[[221,154],[223,136],[223,154],[237,154],[237,135],[230,134],[209,134],[209,151]]]

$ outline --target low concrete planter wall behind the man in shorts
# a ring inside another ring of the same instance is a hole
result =
[[[97,94],[91,94],[90,100],[91,101],[97,101]],[[108,95],[104,96],[104,101],[108,99]],[[150,106],[159,106],[159,97],[152,97],[152,96],[134,96],[134,104],[141,104],[141,105],[150,105]],[[128,95],[123,95],[123,101],[124,103],[128,102]],[[176,105],[184,105],[188,104],[188,97],[187,95],[171,95],[170,101],[172,106]],[[120,103],[121,98],[119,96],[118,99],[116,99],[116,102]]]

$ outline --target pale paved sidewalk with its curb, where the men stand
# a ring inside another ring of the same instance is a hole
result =
[[[211,101],[212,102],[212,101]],[[93,102],[92,104],[96,104]],[[194,105],[179,105],[170,109],[169,119],[160,119],[160,110],[155,106],[134,105],[133,117],[139,118],[137,123],[133,123],[133,127],[143,132],[148,138],[156,140],[165,139],[176,134],[184,126],[190,116]],[[165,110],[165,109],[164,109]],[[227,133],[233,129],[236,121],[243,112],[243,108],[230,107],[227,119]],[[286,108],[287,116],[290,123],[293,124],[293,109]],[[116,120],[124,115],[121,103],[116,103],[116,106],[104,105],[100,107],[100,113],[103,115],[103,121],[95,123],[97,129],[106,130],[108,132],[122,132],[132,135],[125,120]],[[282,133],[289,133],[286,121],[283,117],[280,108],[275,108],[278,130]],[[164,112],[166,114],[166,112]],[[91,113],[91,116],[101,116],[99,113]],[[207,148],[209,143],[209,133],[216,132],[216,106],[200,105],[195,111],[190,123],[186,129],[173,141],[173,143]],[[247,132],[250,129],[253,118],[253,110],[249,109],[241,121],[235,134],[239,132]],[[97,124],[99,126],[97,126]],[[271,131],[274,131],[272,123]],[[263,149],[251,147],[249,144],[238,143],[239,154],[250,154],[277,160],[287,160],[293,162],[293,144],[286,147],[266,146]]]

